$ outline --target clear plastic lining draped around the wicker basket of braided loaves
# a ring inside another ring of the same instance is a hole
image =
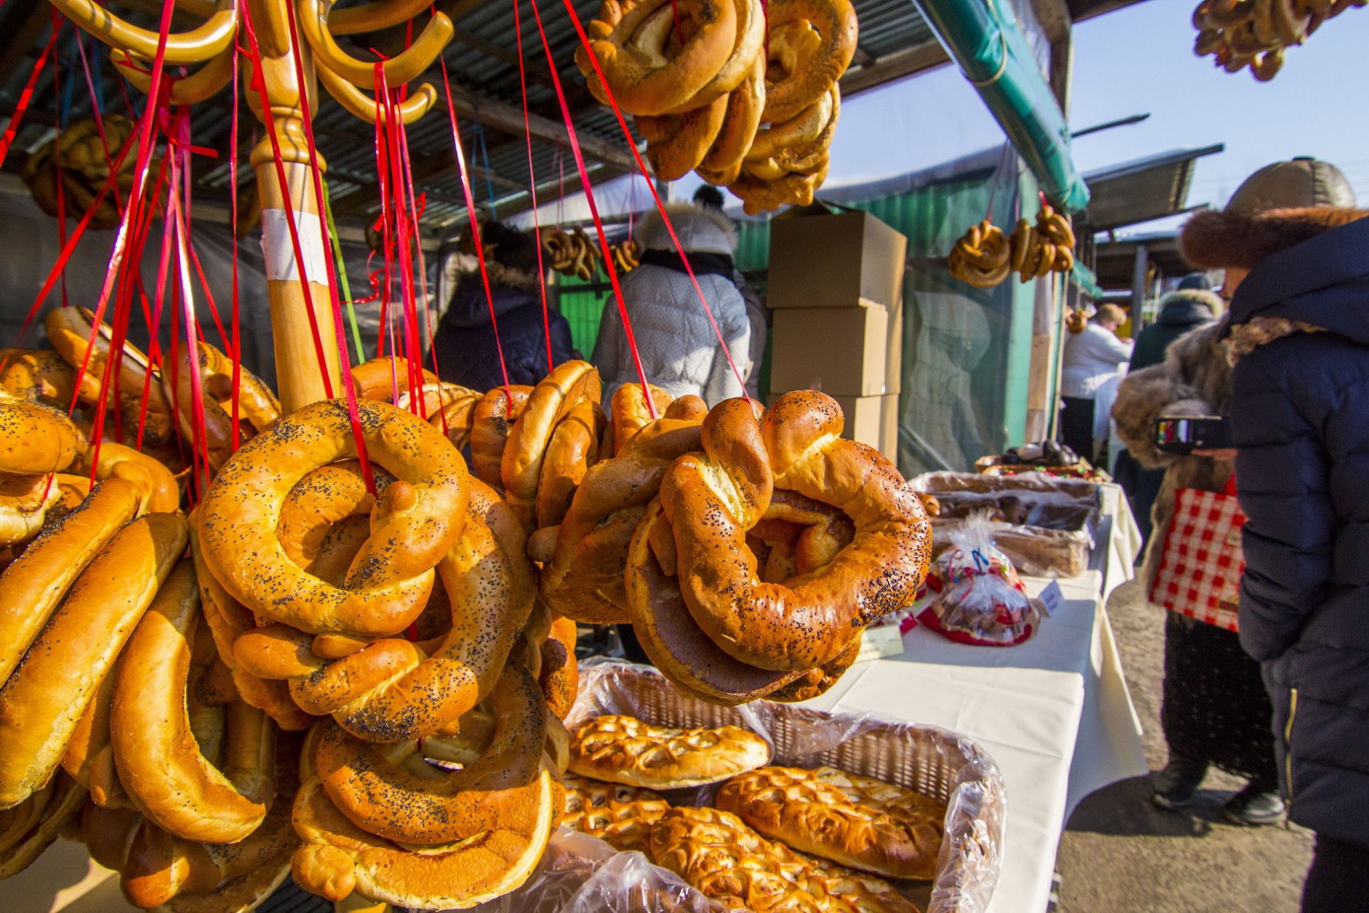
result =
[[[565,723],[627,713],[672,727],[743,725],[765,738],[773,764],[831,765],[897,783],[946,802],[945,836],[931,884],[899,883],[927,913],[982,913],[1002,868],[1008,803],[998,768],[972,739],[879,715],[823,713],[756,701],[726,708],[672,686],[657,669],[620,660],[580,665],[580,694]],[[668,794],[674,805],[708,805],[717,786]],[[537,872],[483,913],[728,913],[639,853],[559,831]],[[738,912],[742,913],[742,912]]]

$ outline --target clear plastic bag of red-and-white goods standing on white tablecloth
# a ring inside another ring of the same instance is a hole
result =
[[[994,528],[987,513],[967,517],[927,575],[917,620],[957,643],[1013,646],[1040,627],[1040,609],[994,543]]]

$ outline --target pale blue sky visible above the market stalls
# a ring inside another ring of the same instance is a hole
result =
[[[1288,52],[1272,82],[1261,83],[1249,71],[1229,74],[1194,55],[1192,7],[1191,0],[1146,0],[1076,27],[1071,125],[1151,115],[1077,140],[1079,168],[1225,142],[1224,153],[1199,160],[1190,205],[1221,205],[1247,174],[1296,155],[1335,163],[1369,203],[1369,8],[1325,23]],[[942,67],[842,105],[828,185],[917,171],[1002,141],[973,86],[954,67]],[[626,208],[627,183],[597,193],[602,211]],[[698,183],[686,177],[675,196],[687,198]],[[641,208],[650,198],[639,188],[631,203]]]

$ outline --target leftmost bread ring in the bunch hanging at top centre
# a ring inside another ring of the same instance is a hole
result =
[[[665,56],[664,38],[674,25],[671,0],[604,0],[597,19],[586,26],[589,53],[598,59],[613,100],[630,114],[661,115],[687,105],[717,77],[737,48],[737,4],[730,0],[676,0],[674,10],[693,31],[684,45]],[[653,14],[665,8],[667,29],[661,18],[649,23]],[[652,37],[638,38],[646,27]],[[652,47],[654,45],[654,47]],[[589,59],[585,47],[575,49],[575,63],[585,74],[590,93],[608,104],[608,93]],[[745,74],[745,70],[742,70]],[[741,77],[738,77],[741,78]],[[701,104],[712,103],[704,99]]]

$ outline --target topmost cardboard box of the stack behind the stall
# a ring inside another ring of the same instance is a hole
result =
[[[904,300],[908,238],[868,212],[795,215],[771,222],[771,308],[830,308]]]

